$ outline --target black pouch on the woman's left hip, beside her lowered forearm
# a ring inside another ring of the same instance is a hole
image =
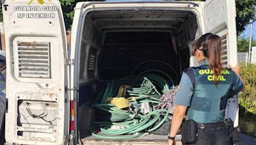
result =
[[[182,144],[193,144],[197,141],[197,127],[194,120],[183,121],[181,127]]]

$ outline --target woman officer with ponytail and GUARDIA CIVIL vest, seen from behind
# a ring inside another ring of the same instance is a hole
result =
[[[211,33],[198,39],[191,53],[200,66],[189,67],[182,74],[180,88],[174,100],[177,106],[173,113],[168,144],[175,144],[175,135],[180,125],[184,124],[182,120],[185,115],[190,121],[195,121],[198,135],[192,143],[184,144],[232,144],[224,117],[228,97],[245,88],[244,81],[239,76],[241,68],[239,64],[231,69],[223,68],[221,38]],[[189,134],[189,127],[185,129],[185,133]],[[188,142],[191,140],[182,135],[182,141],[183,137]]]

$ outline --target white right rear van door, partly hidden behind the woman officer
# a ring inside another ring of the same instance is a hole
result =
[[[222,39],[223,66],[237,64],[236,3],[235,0],[207,0],[204,4],[204,33],[212,32]],[[237,95],[228,100],[226,118],[238,125]]]

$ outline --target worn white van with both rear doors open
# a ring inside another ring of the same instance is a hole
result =
[[[147,60],[170,64],[179,84],[182,71],[198,65],[191,46],[207,32],[221,36],[223,65],[235,66],[235,18],[235,0],[81,2],[67,47],[59,1],[6,0],[6,144],[166,144],[161,135],[90,136],[88,100],[104,80],[129,76]],[[237,106],[237,97],[228,100],[226,115],[236,126]]]

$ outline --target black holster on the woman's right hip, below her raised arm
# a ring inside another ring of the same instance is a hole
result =
[[[238,131],[239,127],[234,127],[234,122],[230,118],[227,118],[225,120],[225,123],[227,125],[232,143],[238,142],[240,140],[240,135]]]

